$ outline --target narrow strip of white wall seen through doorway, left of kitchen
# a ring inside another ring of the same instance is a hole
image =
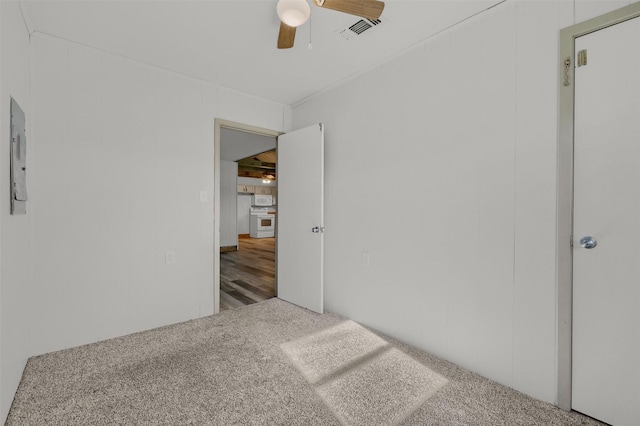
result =
[[[238,245],[237,179],[238,163],[220,161],[220,247]]]

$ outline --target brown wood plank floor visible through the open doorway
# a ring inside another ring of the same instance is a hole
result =
[[[275,296],[275,238],[240,238],[238,251],[220,253],[220,310]]]

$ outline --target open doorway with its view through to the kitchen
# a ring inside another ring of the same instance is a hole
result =
[[[215,120],[215,313],[266,300],[277,293],[275,230],[254,233],[254,238],[249,231],[250,209],[256,209],[252,204],[264,204],[267,195],[275,198],[275,173],[265,171],[260,178],[255,173],[239,173],[239,162],[245,160],[240,170],[246,170],[247,158],[274,150],[279,135],[277,131]],[[256,195],[261,198],[252,201]],[[275,206],[261,206],[258,210],[265,210],[271,219],[260,224],[270,222],[273,226],[277,221]],[[261,229],[266,228],[264,225]]]

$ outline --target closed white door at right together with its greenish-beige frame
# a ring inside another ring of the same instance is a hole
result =
[[[628,303],[637,300],[629,258],[640,231],[625,219],[640,210],[630,175],[637,140],[628,137],[638,131],[639,16],[636,3],[560,34],[558,405],[622,425],[640,416],[640,332]]]

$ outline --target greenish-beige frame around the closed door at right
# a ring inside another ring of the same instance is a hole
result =
[[[556,217],[557,405],[571,410],[574,58],[578,37],[640,17],[640,2],[560,30]],[[567,62],[568,61],[568,62]]]

